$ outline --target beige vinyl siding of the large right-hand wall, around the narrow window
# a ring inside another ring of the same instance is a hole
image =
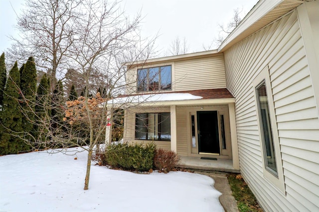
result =
[[[319,119],[296,10],[224,53],[241,173],[267,211],[319,211]],[[286,194],[263,175],[254,78],[268,66]]]

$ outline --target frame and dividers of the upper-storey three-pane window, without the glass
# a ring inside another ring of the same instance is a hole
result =
[[[161,67],[165,67],[165,66],[170,66],[170,89],[165,89],[162,90],[161,87]],[[154,90],[154,91],[150,91],[149,88],[149,84],[150,84],[150,79],[149,79],[149,75],[150,75],[150,69],[153,68],[158,68],[159,70],[159,89],[158,90]],[[143,70],[143,69],[147,69],[147,90],[146,91],[139,91],[139,71]],[[137,69],[137,83],[136,83],[136,92],[137,93],[143,93],[143,92],[157,92],[157,91],[161,91],[161,92],[165,92],[165,91],[172,91],[172,81],[173,81],[173,66],[172,64],[167,64],[167,65],[159,65],[159,66],[150,66],[150,67],[141,67]]]

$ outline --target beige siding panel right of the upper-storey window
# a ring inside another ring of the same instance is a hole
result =
[[[224,56],[176,61],[175,91],[226,88]]]

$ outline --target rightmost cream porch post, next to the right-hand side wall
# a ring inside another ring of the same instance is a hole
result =
[[[230,137],[231,137],[231,151],[233,155],[233,167],[239,169],[239,154],[238,154],[238,141],[236,129],[236,116],[235,116],[235,103],[229,103],[229,124],[230,124]]]

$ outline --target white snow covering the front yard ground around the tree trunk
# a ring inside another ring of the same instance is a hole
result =
[[[0,211],[220,212],[213,179],[187,172],[135,174],[91,166],[76,156],[32,152],[0,157]],[[77,157],[77,160],[74,160]]]

